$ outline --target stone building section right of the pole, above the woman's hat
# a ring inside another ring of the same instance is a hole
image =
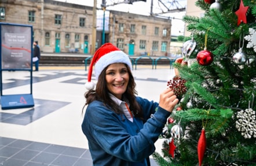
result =
[[[110,11],[108,37],[129,56],[166,56],[170,51],[171,19]]]

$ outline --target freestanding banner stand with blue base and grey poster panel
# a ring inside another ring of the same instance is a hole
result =
[[[0,90],[2,109],[33,107],[32,25],[0,23],[0,39]],[[29,71],[30,93],[3,95],[2,71]]]

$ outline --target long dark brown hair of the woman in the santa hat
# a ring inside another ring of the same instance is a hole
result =
[[[130,102],[130,110],[134,113],[134,116],[143,119],[142,108],[136,101],[136,95],[138,94],[135,89],[136,82],[134,81],[130,68],[126,64],[125,66],[129,73],[129,82],[128,82],[126,91],[123,94],[123,97],[128,99],[128,101]],[[100,73],[100,75],[98,76],[96,90],[89,90],[85,93],[86,103],[83,106],[83,109],[85,108],[86,105],[89,105],[94,100],[98,100],[98,101],[102,101],[105,104],[105,106],[107,106],[108,108],[111,108],[115,113],[123,114],[123,111],[119,108],[119,106],[115,102],[113,102],[112,99],[109,97],[107,80],[105,79],[107,68],[108,66],[105,67],[103,71]]]

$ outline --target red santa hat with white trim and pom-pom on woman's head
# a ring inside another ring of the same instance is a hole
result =
[[[94,53],[90,63],[88,70],[88,82],[85,84],[87,90],[94,89],[94,83],[91,82],[93,65],[95,64],[94,72],[96,80],[98,80],[98,76],[103,71],[103,69],[114,63],[127,64],[131,69],[131,61],[129,56],[127,56],[127,54],[125,54],[123,51],[118,49],[118,47],[112,45],[111,43],[105,43]]]

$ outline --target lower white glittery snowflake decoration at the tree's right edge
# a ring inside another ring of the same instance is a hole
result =
[[[236,128],[241,131],[244,138],[256,138],[256,119],[255,111],[251,108],[241,110],[236,115]]]

